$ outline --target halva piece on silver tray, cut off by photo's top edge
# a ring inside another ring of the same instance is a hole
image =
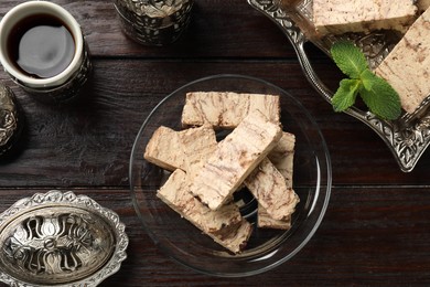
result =
[[[417,18],[413,0],[313,0],[313,23],[320,36],[346,32],[406,32]]]

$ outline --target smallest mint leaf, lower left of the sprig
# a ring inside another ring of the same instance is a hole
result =
[[[344,111],[354,105],[359,91],[359,79],[344,78],[332,97],[332,105],[335,111]]]

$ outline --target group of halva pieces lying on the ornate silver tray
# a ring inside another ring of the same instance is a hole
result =
[[[430,0],[313,0],[319,36],[395,30],[402,34],[374,72],[399,94],[413,114],[430,95]]]

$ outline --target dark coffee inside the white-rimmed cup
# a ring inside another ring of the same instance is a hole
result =
[[[8,52],[24,74],[47,78],[71,64],[75,41],[63,21],[50,14],[37,14],[14,25],[8,39]]]

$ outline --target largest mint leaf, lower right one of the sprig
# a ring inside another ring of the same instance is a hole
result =
[[[366,79],[363,79],[359,95],[369,110],[384,119],[398,118],[401,114],[401,104],[397,92],[370,71],[363,76]],[[365,82],[370,84],[364,84]]]

